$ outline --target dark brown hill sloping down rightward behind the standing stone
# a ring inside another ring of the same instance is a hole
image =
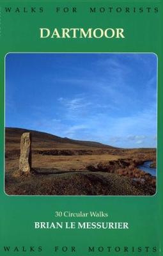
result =
[[[80,141],[72,140],[69,138],[61,138],[46,132],[32,131],[21,128],[10,128],[6,127],[5,129],[5,143],[6,149],[19,149],[20,148],[20,138],[22,133],[31,132],[33,148],[114,148],[109,145],[104,145],[95,141]]]

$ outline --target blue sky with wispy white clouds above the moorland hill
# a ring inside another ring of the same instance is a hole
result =
[[[6,127],[155,147],[155,54],[8,54]]]

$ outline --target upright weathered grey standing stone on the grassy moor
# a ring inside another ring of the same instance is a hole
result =
[[[31,133],[24,132],[20,141],[19,170],[24,173],[31,171]]]

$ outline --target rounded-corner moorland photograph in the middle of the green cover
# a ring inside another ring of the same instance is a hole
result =
[[[9,53],[7,195],[155,195],[157,56]]]

